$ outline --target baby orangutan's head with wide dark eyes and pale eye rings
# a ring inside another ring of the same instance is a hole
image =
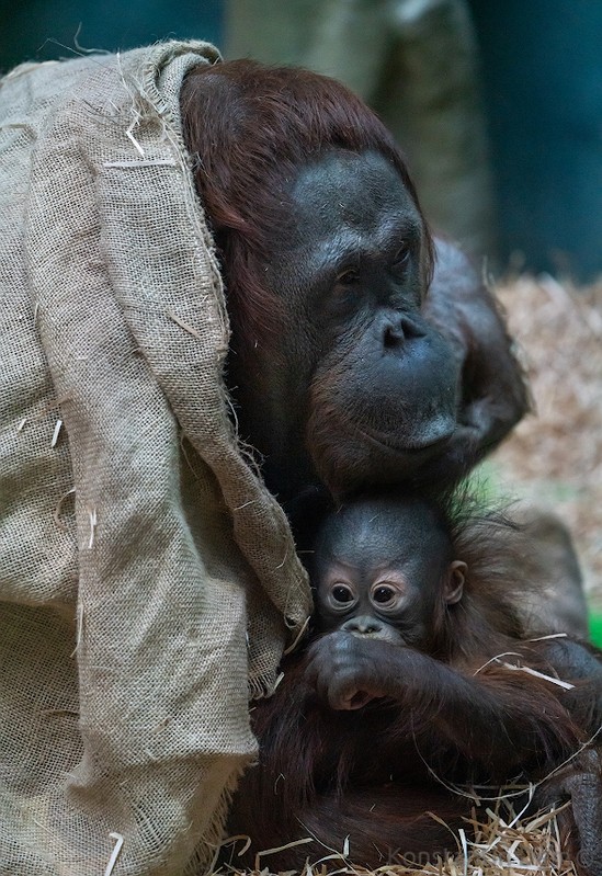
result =
[[[428,649],[434,618],[463,595],[466,564],[420,499],[367,499],[330,516],[313,562],[320,632]]]

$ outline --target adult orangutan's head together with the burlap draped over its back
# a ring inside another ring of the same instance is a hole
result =
[[[334,83],[174,42],[24,65],[0,118],[0,861],[180,874],[310,608],[273,493],[455,475],[524,393]]]

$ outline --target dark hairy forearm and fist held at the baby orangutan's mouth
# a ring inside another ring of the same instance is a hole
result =
[[[336,630],[310,646],[305,679],[332,709],[393,701],[416,732],[442,738],[492,773],[557,763],[578,743],[554,685],[500,665],[464,674],[412,648]]]

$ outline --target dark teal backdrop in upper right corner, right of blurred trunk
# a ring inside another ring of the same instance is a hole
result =
[[[602,2],[470,0],[502,257],[602,271]]]

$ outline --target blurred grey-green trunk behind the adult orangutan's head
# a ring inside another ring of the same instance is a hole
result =
[[[409,158],[430,223],[492,254],[477,50],[464,0],[227,0],[226,55],[345,82]]]

